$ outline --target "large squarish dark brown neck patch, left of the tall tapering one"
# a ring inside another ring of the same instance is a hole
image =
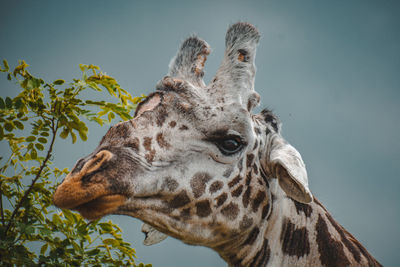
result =
[[[302,257],[310,253],[308,231],[305,227],[296,229],[289,219],[284,219],[281,231],[282,250],[284,253]]]

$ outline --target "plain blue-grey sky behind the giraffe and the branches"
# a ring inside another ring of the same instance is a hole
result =
[[[180,42],[197,33],[213,48],[214,75],[229,24],[248,21],[262,39],[256,90],[302,154],[313,193],[385,266],[400,261],[400,3],[397,1],[11,1],[0,0],[0,58],[18,59],[45,80],[99,65],[132,94],[149,93]],[[17,91],[3,75],[0,95]],[[56,144],[72,168],[89,141]],[[145,247],[140,222],[109,216],[153,266],[226,266],[207,248],[168,238]]]

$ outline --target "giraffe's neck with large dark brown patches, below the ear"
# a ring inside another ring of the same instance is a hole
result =
[[[217,249],[229,266],[381,266],[317,199],[296,202],[274,182],[271,191],[268,218]]]

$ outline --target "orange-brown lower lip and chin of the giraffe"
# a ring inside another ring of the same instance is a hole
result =
[[[105,195],[81,204],[73,210],[78,211],[85,219],[93,221],[112,213],[125,201],[126,197],[120,194]]]

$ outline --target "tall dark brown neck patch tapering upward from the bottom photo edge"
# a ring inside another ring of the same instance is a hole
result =
[[[349,266],[350,262],[343,251],[343,244],[331,237],[326,221],[321,215],[318,216],[316,230],[321,263],[327,267]]]

